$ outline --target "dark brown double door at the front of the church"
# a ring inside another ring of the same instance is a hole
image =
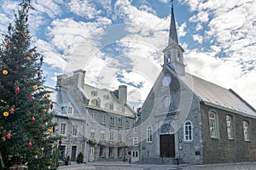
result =
[[[160,134],[160,156],[175,157],[174,134]]]

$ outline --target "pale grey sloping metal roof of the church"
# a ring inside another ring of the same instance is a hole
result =
[[[232,89],[220,87],[189,73],[179,79],[206,105],[256,117],[255,109]]]

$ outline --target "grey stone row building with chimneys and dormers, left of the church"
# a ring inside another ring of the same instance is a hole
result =
[[[84,77],[83,70],[73,71],[71,77],[57,77],[55,103],[59,108],[54,109],[59,111],[55,120],[63,135],[61,147],[71,157],[75,149],[76,155],[82,152],[85,162],[124,161],[129,143],[126,134],[136,120],[136,112],[126,103],[127,87],[99,89],[84,84]],[[63,134],[63,126],[67,134]]]

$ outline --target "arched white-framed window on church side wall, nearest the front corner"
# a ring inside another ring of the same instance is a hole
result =
[[[210,136],[218,138],[218,114],[216,111],[209,111]]]

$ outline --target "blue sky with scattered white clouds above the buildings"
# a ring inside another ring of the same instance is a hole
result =
[[[0,0],[0,32],[21,0]],[[256,108],[256,1],[174,0],[186,71],[232,88]],[[128,86],[131,106],[143,104],[161,71],[168,42],[169,0],[32,0],[32,44],[44,54],[46,85],[86,71],[96,88]],[[3,38],[3,37],[2,37]]]

